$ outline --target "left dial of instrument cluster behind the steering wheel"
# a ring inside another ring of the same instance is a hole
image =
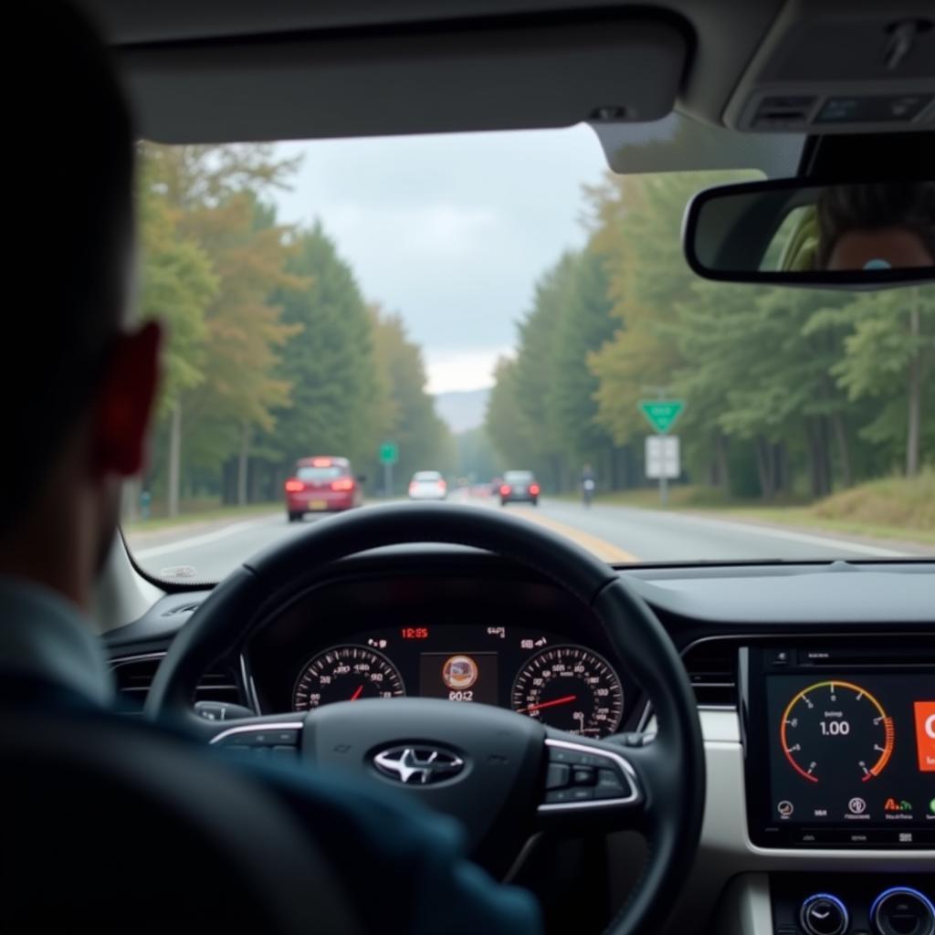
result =
[[[399,669],[366,646],[332,646],[299,672],[293,710],[309,711],[332,701],[399,698],[406,694]]]

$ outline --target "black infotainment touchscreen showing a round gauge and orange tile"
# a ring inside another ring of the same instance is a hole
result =
[[[783,845],[935,844],[935,669],[872,665],[853,651],[846,660],[832,650],[751,652],[758,656],[747,684],[755,837]]]

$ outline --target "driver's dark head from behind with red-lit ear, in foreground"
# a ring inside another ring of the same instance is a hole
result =
[[[134,137],[106,51],[63,4],[27,4],[20,19],[35,49],[7,176],[22,210],[0,367],[0,574],[85,603],[122,478],[141,466],[159,332],[128,316]]]

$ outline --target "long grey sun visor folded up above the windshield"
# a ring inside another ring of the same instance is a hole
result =
[[[169,143],[560,127],[668,114],[669,21],[432,24],[122,47],[144,137]]]

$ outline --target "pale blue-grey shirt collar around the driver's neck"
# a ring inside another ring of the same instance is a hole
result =
[[[36,583],[0,577],[0,670],[60,683],[109,705],[113,678],[74,604]]]

